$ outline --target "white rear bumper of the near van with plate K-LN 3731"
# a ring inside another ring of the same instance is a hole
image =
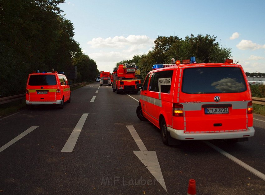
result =
[[[176,130],[167,127],[170,136],[177,140],[218,140],[218,139],[236,139],[254,136],[253,126],[248,127],[246,131],[232,131],[219,133],[184,133],[184,130]]]

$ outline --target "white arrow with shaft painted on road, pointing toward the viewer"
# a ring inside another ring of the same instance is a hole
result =
[[[138,157],[139,160],[146,166],[148,171],[156,178],[158,183],[166,190],[166,184],[161,172],[161,168],[157,159],[156,151],[147,151],[138,133],[132,125],[127,125],[127,129],[130,131],[132,138],[136,142],[137,146],[141,151],[134,151],[133,153]],[[167,192],[167,190],[166,190]]]

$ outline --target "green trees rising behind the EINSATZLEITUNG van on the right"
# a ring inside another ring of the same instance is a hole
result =
[[[216,42],[216,36],[198,35],[195,37],[191,34],[191,36],[186,36],[185,40],[178,36],[158,36],[154,44],[148,54],[135,55],[132,59],[118,62],[116,66],[124,62],[135,62],[144,79],[154,64],[170,64],[171,58],[182,60],[195,56],[197,63],[217,63],[224,62],[225,59],[231,57],[231,49],[224,48]]]

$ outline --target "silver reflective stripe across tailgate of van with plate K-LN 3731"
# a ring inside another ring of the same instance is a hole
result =
[[[251,100],[250,100],[251,101]],[[178,102],[183,105],[183,110],[185,111],[199,111],[201,110],[202,105],[218,105],[218,104],[232,104],[232,109],[247,109],[248,102],[250,101],[229,101],[229,102]]]

